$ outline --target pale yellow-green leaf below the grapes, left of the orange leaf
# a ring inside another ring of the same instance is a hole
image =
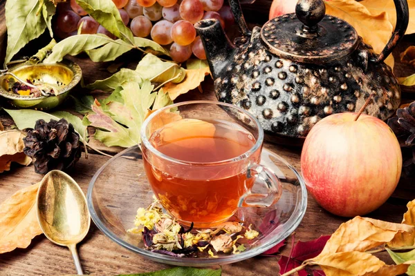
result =
[[[143,78],[157,83],[172,81],[180,83],[185,79],[186,72],[183,68],[171,61],[162,61],[152,54],[147,54],[138,63],[136,72]]]

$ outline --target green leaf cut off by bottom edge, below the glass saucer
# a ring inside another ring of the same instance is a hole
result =
[[[149,273],[138,274],[121,274],[118,276],[221,276],[221,269],[201,269],[177,266],[175,268],[168,268]]]

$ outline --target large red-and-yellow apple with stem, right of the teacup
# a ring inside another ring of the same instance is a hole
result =
[[[301,170],[307,190],[342,217],[365,215],[391,196],[402,155],[394,132],[376,117],[346,112],[319,121],[306,137]]]

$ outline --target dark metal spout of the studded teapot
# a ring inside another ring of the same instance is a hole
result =
[[[194,27],[201,36],[210,72],[216,79],[233,59],[235,47],[226,36],[218,19],[201,20]]]

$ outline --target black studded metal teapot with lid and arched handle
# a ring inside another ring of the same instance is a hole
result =
[[[382,120],[400,104],[396,77],[383,61],[405,34],[406,0],[394,0],[396,27],[376,55],[346,21],[326,15],[322,0],[299,0],[284,14],[248,30],[238,0],[229,0],[243,37],[235,46],[217,19],[196,23],[219,101],[255,115],[264,130],[305,137],[317,121],[336,112],[366,108]]]

